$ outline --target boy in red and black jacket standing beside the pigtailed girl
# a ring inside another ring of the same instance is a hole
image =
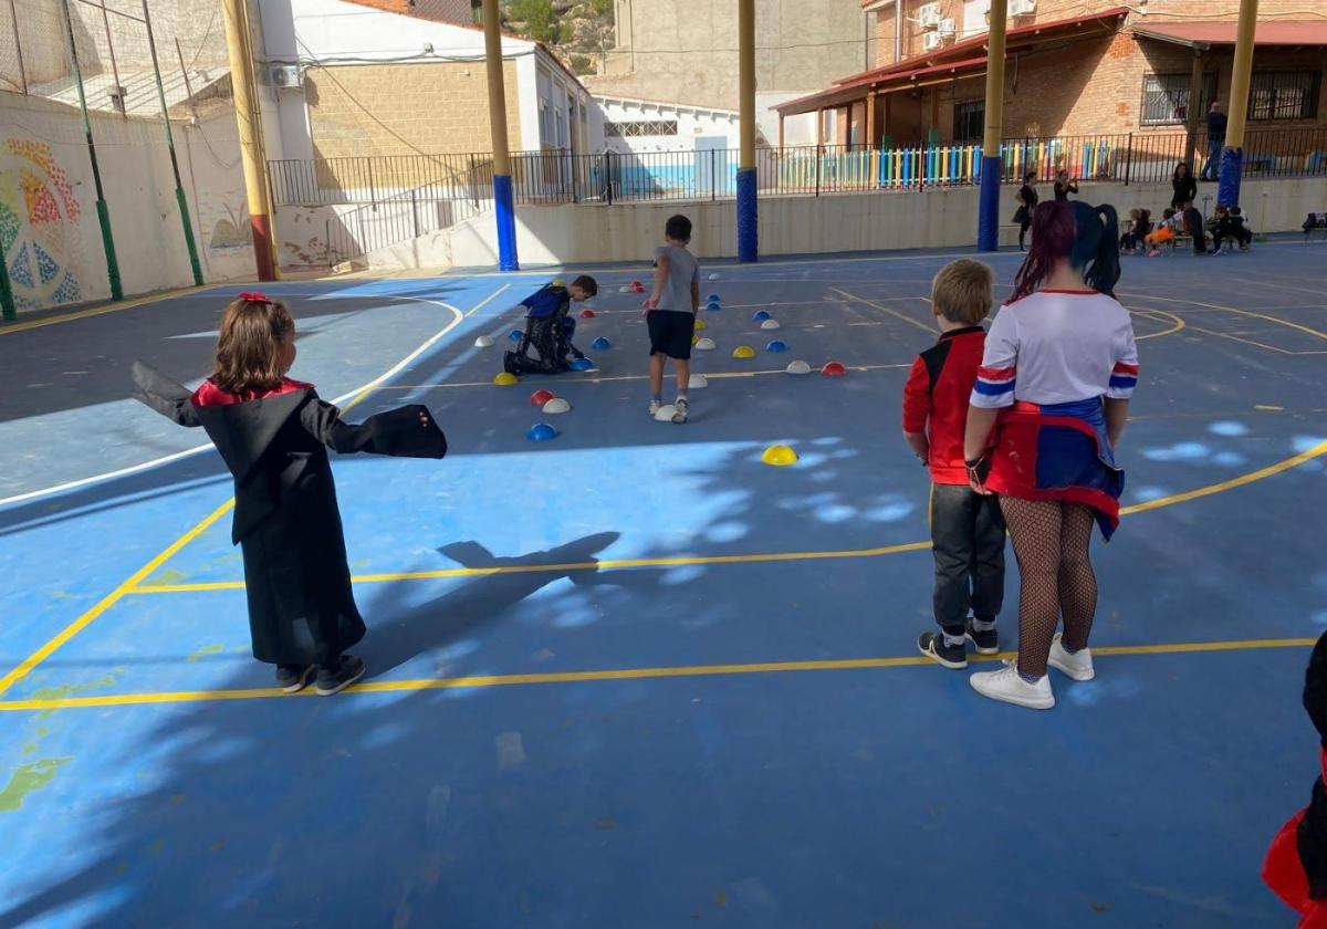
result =
[[[930,295],[940,341],[917,356],[904,388],[904,438],[930,468],[933,600],[941,629],[924,632],[917,648],[945,668],[967,668],[967,641],[978,654],[999,652],[1005,520],[995,496],[969,486],[963,461],[967,398],[982,364],[981,322],[991,312],[993,285],[991,269],[981,261],[959,259],[941,268]]]

